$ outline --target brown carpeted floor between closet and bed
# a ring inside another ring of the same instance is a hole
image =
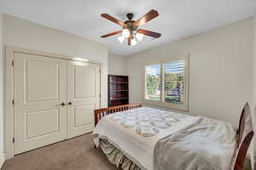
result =
[[[95,149],[91,134],[28,151],[3,163],[1,170],[108,170],[117,169]]]

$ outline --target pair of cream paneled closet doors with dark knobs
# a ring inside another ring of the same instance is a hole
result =
[[[100,66],[14,54],[15,154],[93,130]]]

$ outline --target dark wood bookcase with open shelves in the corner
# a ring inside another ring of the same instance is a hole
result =
[[[108,107],[129,104],[127,76],[108,75]]]

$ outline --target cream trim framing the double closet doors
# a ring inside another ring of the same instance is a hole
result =
[[[93,63],[100,65],[102,69],[102,61],[96,61],[91,59],[83,59],[79,58],[78,56],[69,56],[69,55],[62,55],[62,54],[50,54],[44,53],[38,50],[32,49],[25,49],[25,48],[15,48],[15,47],[5,47],[5,100],[4,100],[4,114],[5,114],[5,138],[4,138],[4,145],[6,150],[5,159],[9,159],[15,156],[15,147],[13,143],[13,138],[15,137],[15,111],[13,105],[14,99],[14,73],[13,73],[13,60],[14,60],[14,53],[23,53],[23,54],[36,54],[41,56],[47,56],[52,58],[58,59],[68,59],[68,60],[75,60],[75,61],[84,61],[87,63]],[[102,77],[102,71],[100,77]],[[102,79],[102,78],[100,78]],[[101,94],[102,94],[102,82],[101,84]],[[101,107],[101,102],[100,102]]]

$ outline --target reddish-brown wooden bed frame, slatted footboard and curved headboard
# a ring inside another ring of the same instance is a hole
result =
[[[142,107],[141,103],[118,105],[104,109],[95,110],[95,126],[102,119],[103,116],[113,114],[119,111],[131,110],[134,108]],[[236,150],[231,164],[231,169],[242,170],[243,163],[247,156],[247,150],[253,139],[253,118],[248,103],[241,111],[239,122],[239,129],[237,131]]]

